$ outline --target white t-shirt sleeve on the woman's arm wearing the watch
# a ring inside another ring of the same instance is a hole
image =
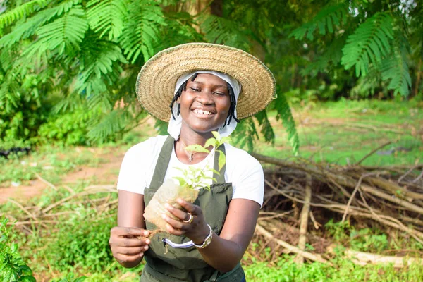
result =
[[[235,175],[233,178],[233,199],[247,199],[260,204],[262,207],[264,197],[264,173],[262,165],[243,152],[236,161]]]

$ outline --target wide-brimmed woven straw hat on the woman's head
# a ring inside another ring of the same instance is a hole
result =
[[[255,56],[219,44],[188,43],[160,51],[142,66],[136,85],[138,100],[149,114],[168,122],[176,81],[195,70],[220,71],[241,83],[238,119],[264,109],[276,93],[274,75]]]

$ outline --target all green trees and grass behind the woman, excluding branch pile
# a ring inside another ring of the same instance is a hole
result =
[[[348,166],[390,142],[363,164],[421,164],[422,7],[413,0],[0,1],[0,150],[32,147],[28,157],[0,157],[0,190],[36,178],[49,187],[25,204],[1,205],[11,220],[0,224],[0,277],[137,281],[142,265],[121,269],[107,245],[116,222],[114,181],[90,193],[104,181],[62,178],[81,166],[105,166],[163,132],[166,123],[138,105],[135,79],[145,61],[176,44],[238,47],[274,73],[278,97],[238,125],[233,141],[240,147],[294,158],[301,145],[302,158]],[[318,235],[353,250],[423,252],[380,226],[323,223]],[[333,266],[301,266],[288,256],[269,263],[273,250],[259,244],[243,259],[248,281],[423,279],[415,264],[357,267],[337,256]]]

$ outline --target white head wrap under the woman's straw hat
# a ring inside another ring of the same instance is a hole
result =
[[[240,82],[238,82],[238,80],[235,80],[235,78],[232,78],[230,75],[227,75],[225,73],[220,73],[219,71],[192,71],[190,73],[185,73],[183,75],[180,75],[180,77],[178,78],[178,81],[176,82],[174,94],[176,94],[179,87],[183,85],[183,82],[188,80],[188,78],[192,77],[192,75],[195,75],[196,73],[208,73],[211,75],[216,75],[218,78],[225,80],[226,82],[229,83],[229,85],[231,85],[233,89],[233,94],[235,95],[235,101],[238,101],[238,96],[241,92]],[[180,115],[179,116],[176,115],[176,113],[178,112],[177,103],[173,104],[172,110],[176,119],[173,119],[173,117],[171,116],[171,120],[169,121],[169,125],[168,125],[168,133],[169,135],[173,137],[173,139],[178,140],[179,134],[180,134],[180,127],[182,125],[182,117]],[[236,108],[235,108],[234,114],[236,116]],[[232,120],[230,125],[225,125],[224,128],[219,128],[218,132],[222,137],[226,137],[226,136],[229,136],[233,132],[233,130],[235,130],[235,128],[236,128],[236,121]]]

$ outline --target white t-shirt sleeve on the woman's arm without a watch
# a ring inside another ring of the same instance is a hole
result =
[[[141,142],[125,153],[118,177],[118,190],[144,194],[148,171],[151,169],[151,140]],[[150,148],[150,149],[149,149]]]

